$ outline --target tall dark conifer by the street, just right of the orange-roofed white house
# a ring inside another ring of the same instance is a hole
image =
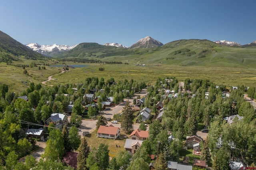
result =
[[[134,116],[132,113],[132,107],[130,107],[129,103],[126,102],[124,108],[122,109],[122,115],[120,117],[122,130],[124,130],[125,132],[132,132],[133,118]]]

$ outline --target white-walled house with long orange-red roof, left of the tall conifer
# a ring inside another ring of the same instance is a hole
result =
[[[100,138],[116,139],[119,134],[120,134],[120,128],[114,127],[113,125],[110,125],[110,126],[100,125],[97,131],[97,136]]]

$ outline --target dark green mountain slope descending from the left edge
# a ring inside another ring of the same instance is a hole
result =
[[[0,31],[0,62],[22,61],[22,59],[44,60],[48,57],[28,49],[22,43]]]

